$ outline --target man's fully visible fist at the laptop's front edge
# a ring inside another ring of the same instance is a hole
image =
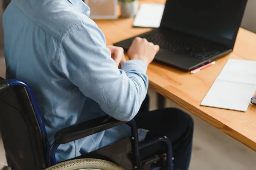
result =
[[[136,37],[127,54],[130,59],[141,59],[150,64],[158,51],[159,45],[154,45],[145,38]]]

